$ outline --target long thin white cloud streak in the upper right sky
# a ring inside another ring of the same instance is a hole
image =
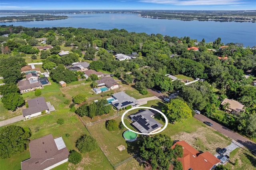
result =
[[[241,4],[239,0],[140,0],[140,2],[168,5],[236,5]]]

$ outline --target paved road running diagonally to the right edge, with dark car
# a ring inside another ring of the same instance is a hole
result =
[[[251,140],[241,136],[240,134],[237,134],[236,132],[212,121],[211,119],[209,119],[208,117],[205,117],[204,115],[198,115],[195,114],[194,116],[196,119],[198,119],[199,121],[208,121],[211,122],[212,128],[216,129],[217,131],[221,132],[222,134],[232,138],[233,140],[235,140],[236,142],[242,144],[243,146],[245,146],[246,148],[248,148],[251,151],[256,152],[256,143],[252,142]]]

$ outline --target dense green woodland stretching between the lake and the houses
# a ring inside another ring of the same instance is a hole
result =
[[[1,34],[9,34],[9,37],[0,37],[0,43],[4,42],[0,49],[0,75],[6,83],[5,86],[0,86],[1,95],[10,83],[16,84],[22,79],[24,75],[20,73],[20,68],[26,64],[23,57],[25,54],[37,54],[39,51],[34,46],[38,42],[35,40],[45,37],[46,44],[53,48],[41,52],[40,58],[43,68],[50,71],[50,77],[56,82],[60,79],[65,79],[67,83],[77,81],[80,73],[74,74],[65,69],[65,66],[81,59],[91,60],[90,69],[109,71],[142,94],[148,93],[147,88],[157,88],[168,93],[179,91],[177,99],[186,102],[191,110],[198,109],[202,114],[232,130],[256,137],[256,87],[252,84],[256,73],[254,47],[230,42],[225,44],[228,47],[219,48],[224,45],[221,38],[207,43],[204,39],[148,35],[127,32],[124,29],[1,26],[0,30]],[[72,47],[72,53],[58,56],[61,44]],[[94,49],[96,46],[100,48],[97,53]],[[188,47],[199,47],[199,51],[188,50]],[[123,54],[137,52],[138,56],[130,61],[117,61],[112,52],[109,53],[106,49]],[[86,52],[85,55],[82,51]],[[92,61],[95,58],[98,60]],[[57,69],[53,69],[54,67]],[[127,74],[128,72],[131,73]],[[177,80],[172,82],[165,74],[183,74],[206,81],[185,86]],[[246,74],[250,74],[248,79],[244,77]],[[8,90],[12,95],[17,93],[16,90]],[[3,96],[3,103],[9,101],[7,97],[10,99],[10,94]],[[6,108],[15,110],[23,105],[24,101],[18,102],[19,97],[16,95],[15,107]],[[226,108],[220,106],[225,98],[243,103],[245,111],[239,114],[225,113]],[[90,110],[90,106],[86,105],[86,108]]]

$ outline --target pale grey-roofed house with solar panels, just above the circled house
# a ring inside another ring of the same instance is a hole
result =
[[[112,95],[112,98],[114,99],[111,101],[111,104],[116,107],[116,109],[120,110],[122,108],[125,108],[127,106],[135,106],[138,101],[134,99],[133,97],[130,97],[123,91],[120,91],[118,93],[115,93]]]

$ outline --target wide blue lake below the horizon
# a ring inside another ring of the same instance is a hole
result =
[[[125,29],[128,32],[162,34],[178,38],[189,36],[190,39],[213,42],[218,37],[223,43],[243,43],[244,46],[256,45],[256,23],[252,22],[215,22],[182,21],[142,18],[137,14],[57,14],[70,18],[65,20],[44,20],[32,22],[0,22],[0,25],[24,27],[75,27],[95,28],[100,30]],[[7,15],[0,15],[7,16]]]

